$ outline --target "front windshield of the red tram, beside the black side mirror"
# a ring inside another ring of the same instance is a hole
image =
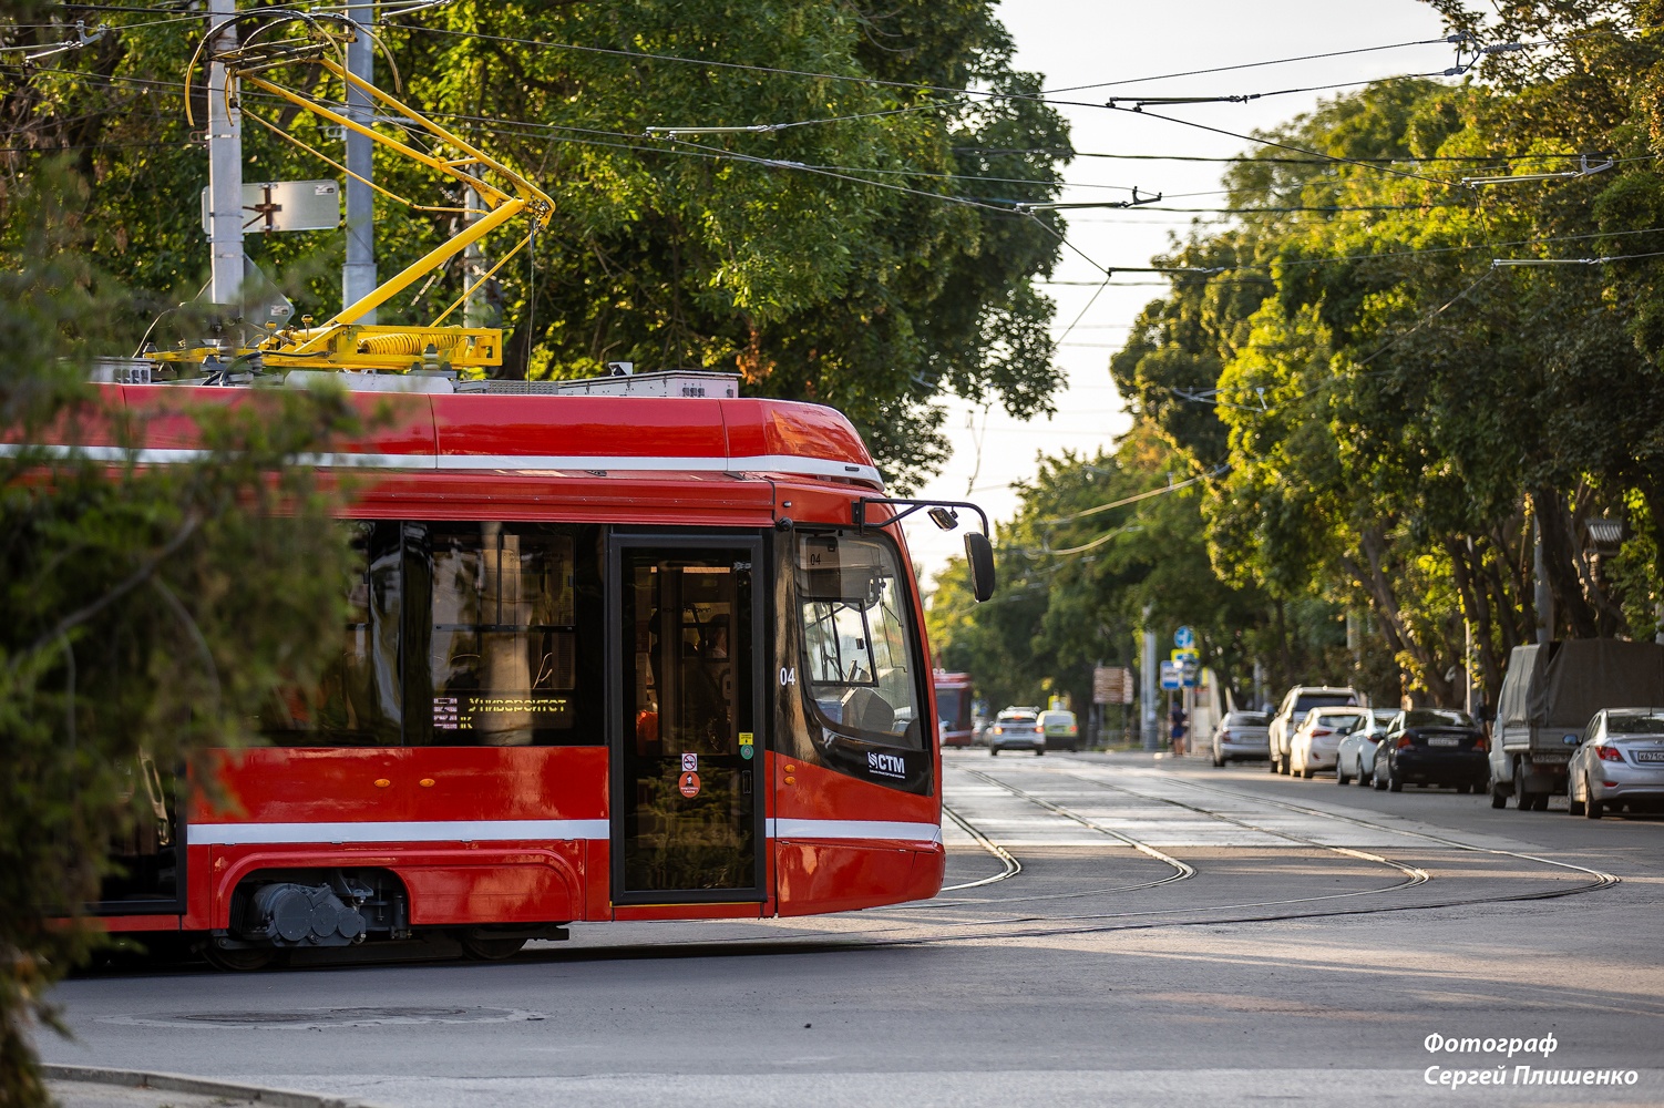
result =
[[[824,727],[924,749],[912,604],[885,541],[799,534],[804,687]]]

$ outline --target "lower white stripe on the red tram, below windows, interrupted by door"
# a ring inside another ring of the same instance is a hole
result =
[[[769,838],[942,842],[937,824],[887,820],[767,820]],[[191,824],[193,847],[369,842],[536,842],[611,837],[609,820],[401,820],[363,824]]]

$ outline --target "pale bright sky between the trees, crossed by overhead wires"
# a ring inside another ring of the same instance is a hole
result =
[[[1017,68],[1042,73],[1043,88],[1127,82],[1125,88],[1067,93],[1070,100],[1093,103],[1123,93],[1223,96],[1368,82],[1439,72],[1454,62],[1454,48],[1441,42],[1135,83],[1135,78],[1163,73],[1443,38],[1446,30],[1438,15],[1419,0],[1007,0],[998,17],[1017,43]],[[1246,135],[1310,111],[1320,98],[1340,93],[1186,105],[1161,113]],[[1083,153],[1218,158],[1253,148],[1238,138],[1123,111],[1058,110],[1070,121],[1075,150]],[[1225,168],[1205,161],[1077,158],[1063,170],[1068,186],[1062,200],[1127,200],[1132,193],[1120,190],[1137,186],[1140,196],[1163,195],[1163,203],[1151,208],[1218,208],[1223,206],[1216,190]],[[1108,268],[1148,266],[1150,256],[1166,250],[1170,236],[1185,235],[1195,218],[1225,216],[1150,208],[1070,215],[1068,241],[1080,253],[1065,248],[1053,283],[1042,286],[1057,301],[1053,334],[1062,338],[1057,361],[1068,374],[1067,389],[1057,396],[1057,414],[1023,423],[997,404],[985,413],[963,401],[950,403],[945,431],[953,456],[919,496],[968,499],[992,519],[1003,521],[1017,512],[1013,482],[1038,471],[1038,454],[1112,449],[1130,419],[1110,383],[1110,354],[1120,349],[1140,309],[1158,298],[1166,283],[1151,284],[1160,281],[1158,275],[1128,273],[1113,278],[1113,284],[1093,299],[1103,275],[1087,258]],[[907,537],[927,581],[952,554],[963,551],[962,532],[947,534],[929,522],[910,526]]]

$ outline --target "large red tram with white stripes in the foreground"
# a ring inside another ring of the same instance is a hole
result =
[[[895,526],[922,504],[884,496],[829,408],[654,376],[544,396],[339,374],[424,389],[354,396],[391,426],[319,459],[368,477],[339,654],[273,704],[271,745],[218,754],[233,807],[141,775],[158,820],[95,905],[108,930],[180,932],[223,968],[436,935],[501,958],[572,922],[937,893],[937,712]],[[102,388],[146,413],[158,464],[195,456],[191,406],[228,393]]]

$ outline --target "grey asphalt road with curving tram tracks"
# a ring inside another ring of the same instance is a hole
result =
[[[934,902],[576,925],[499,965],[102,970],[42,1053],[399,1108],[1664,1103],[1661,817],[1200,759],[948,765]]]

